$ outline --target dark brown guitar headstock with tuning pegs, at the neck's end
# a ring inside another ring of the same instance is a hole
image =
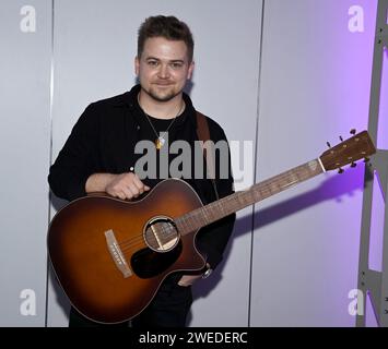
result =
[[[351,131],[352,134],[355,130]],[[330,146],[330,144],[328,144]],[[341,142],[334,147],[322,153],[319,157],[322,166],[327,171],[339,170],[339,173],[343,172],[342,167],[351,164],[351,167],[355,167],[355,161],[364,158],[368,160],[368,156],[376,153],[376,148],[369,137],[367,131],[360,132],[353,135],[351,139]]]

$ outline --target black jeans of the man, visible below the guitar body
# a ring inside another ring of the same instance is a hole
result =
[[[114,325],[96,323],[71,308],[69,327],[185,327],[192,303],[191,287],[178,286],[176,281],[176,278],[167,278],[151,303],[130,323]]]

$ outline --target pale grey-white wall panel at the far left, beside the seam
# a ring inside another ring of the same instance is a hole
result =
[[[25,5],[0,2],[0,326],[45,325],[51,3]]]

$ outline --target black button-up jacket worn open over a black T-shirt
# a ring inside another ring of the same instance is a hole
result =
[[[124,173],[133,169],[141,155],[134,154],[134,146],[141,140],[155,140],[154,131],[140,109],[137,95],[140,86],[130,92],[87,106],[50,167],[48,181],[51,191],[68,201],[86,195],[85,183],[93,173]],[[168,131],[168,142],[185,140],[198,141],[196,110],[190,98],[184,94],[185,112],[179,116]],[[155,119],[152,119],[157,121]],[[212,141],[225,140],[222,128],[207,118]],[[165,120],[163,120],[165,121]],[[163,128],[163,125],[162,125]],[[160,130],[157,130],[160,131]],[[161,130],[163,131],[163,130]],[[171,161],[177,155],[171,155]],[[191,157],[193,160],[193,156]],[[220,197],[233,193],[231,166],[228,177],[220,179],[219,156],[215,158],[216,188]],[[228,163],[230,155],[228,155]],[[209,179],[183,178],[199,194],[203,204],[215,200],[214,190]],[[142,179],[154,186],[161,179]],[[198,248],[214,268],[222,260],[223,251],[233,231],[235,215],[225,217],[198,233]]]

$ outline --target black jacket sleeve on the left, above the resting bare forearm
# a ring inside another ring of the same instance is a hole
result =
[[[98,149],[98,115],[91,104],[74,124],[63,148],[59,152],[48,174],[51,191],[72,201],[86,195],[85,183],[95,172]]]

